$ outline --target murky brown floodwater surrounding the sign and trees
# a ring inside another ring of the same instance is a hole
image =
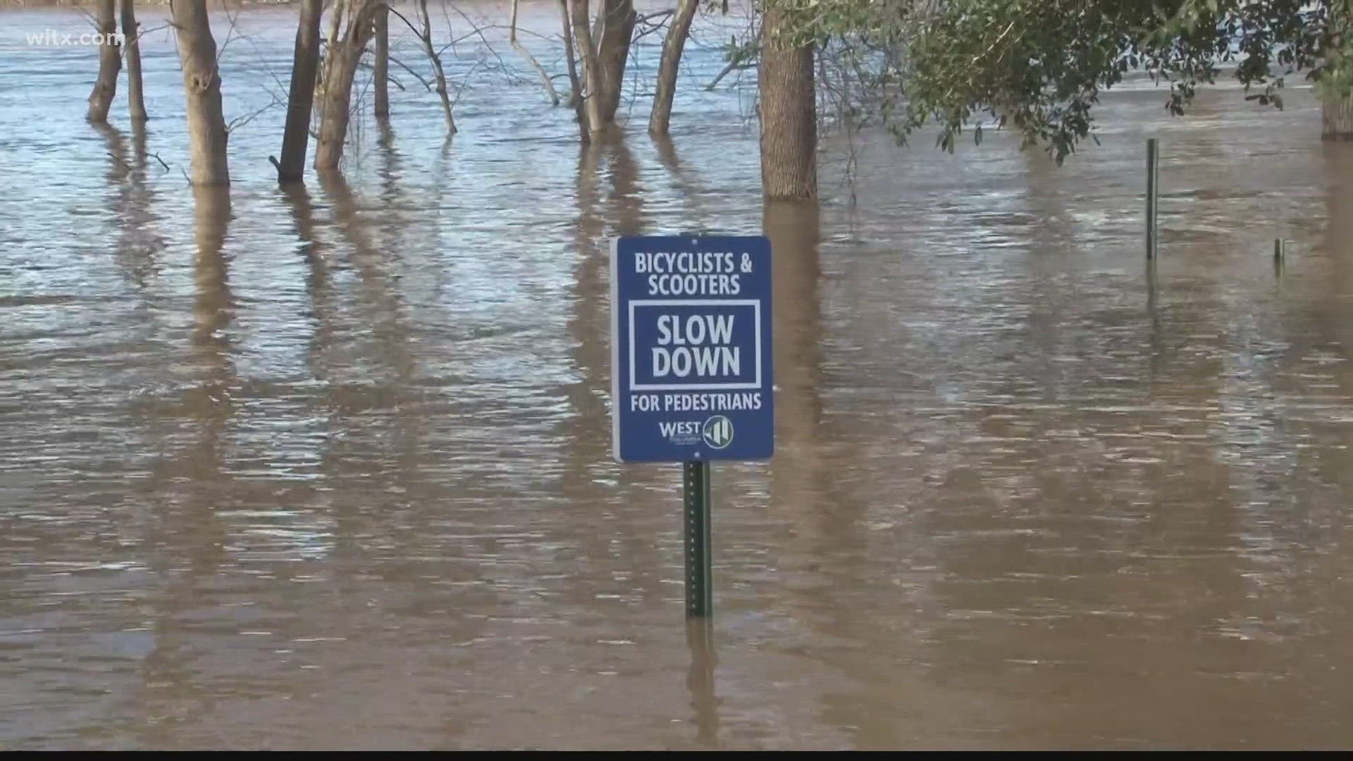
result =
[[[23,38],[85,22],[0,18],[0,746],[1353,745],[1353,145],[1310,91],[1180,121],[1135,83],[1063,168],[835,135],[821,207],[763,209],[755,77],[701,88],[744,22],[701,22],[671,145],[645,38],[591,152],[469,39],[449,144],[406,77],[348,183],[285,194],[271,108],[195,203],[165,31],[149,130],[119,92],[100,131],[95,51]],[[227,119],[294,19],[214,22]],[[609,440],[606,237],[693,229],[777,256],[779,450],[716,467],[712,647],[679,471]]]

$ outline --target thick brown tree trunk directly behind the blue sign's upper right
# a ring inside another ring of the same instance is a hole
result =
[[[783,11],[762,20],[760,85],[762,194],[767,199],[817,198],[817,103],[813,46],[792,43]]]

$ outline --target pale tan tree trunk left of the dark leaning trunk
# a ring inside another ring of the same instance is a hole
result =
[[[170,0],[179,39],[179,65],[188,100],[188,145],[192,152],[189,180],[196,187],[230,184],[226,164],[226,119],[221,111],[221,72],[216,41],[211,37],[207,0]]]

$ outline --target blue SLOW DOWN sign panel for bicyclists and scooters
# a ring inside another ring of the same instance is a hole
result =
[[[774,454],[770,290],[770,241],[760,236],[613,241],[617,460],[762,460]]]

